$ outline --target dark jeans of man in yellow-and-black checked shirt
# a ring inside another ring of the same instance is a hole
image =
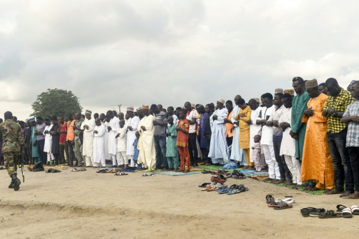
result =
[[[327,133],[327,142],[329,146],[330,155],[334,164],[334,179],[335,187],[338,191],[345,191],[354,193],[354,178],[353,170],[349,159],[348,149],[346,144],[347,129],[339,133]]]

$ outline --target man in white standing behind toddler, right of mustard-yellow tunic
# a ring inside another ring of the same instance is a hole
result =
[[[254,162],[255,159],[252,159],[252,152],[253,149],[252,147],[254,146],[255,142],[254,142],[254,137],[256,135],[260,135],[261,134],[261,125],[256,124],[257,118],[259,117],[260,111],[261,111],[261,107],[259,106],[259,99],[258,101],[255,99],[251,99],[248,101],[248,105],[249,107],[251,107],[251,121],[250,121],[250,125],[249,125],[249,158],[251,162]]]

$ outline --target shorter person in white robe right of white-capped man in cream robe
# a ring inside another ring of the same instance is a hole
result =
[[[95,127],[94,131],[92,131],[92,135],[94,136],[94,153],[93,159],[95,163],[95,167],[99,167],[100,164],[102,167],[106,167],[105,161],[105,133],[106,128],[105,125],[101,123],[100,118],[95,119]]]

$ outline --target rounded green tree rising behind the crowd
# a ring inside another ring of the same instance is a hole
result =
[[[71,91],[61,89],[47,89],[38,95],[31,105],[34,113],[31,116],[67,116],[69,113],[81,112],[79,98]]]

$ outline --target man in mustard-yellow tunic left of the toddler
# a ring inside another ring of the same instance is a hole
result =
[[[245,104],[245,100],[237,100],[239,106],[239,113],[236,115],[236,120],[239,120],[239,148],[243,149],[245,158],[247,160],[247,166],[244,169],[254,169],[253,162],[249,158],[249,124],[248,120],[251,119],[251,107]]]

